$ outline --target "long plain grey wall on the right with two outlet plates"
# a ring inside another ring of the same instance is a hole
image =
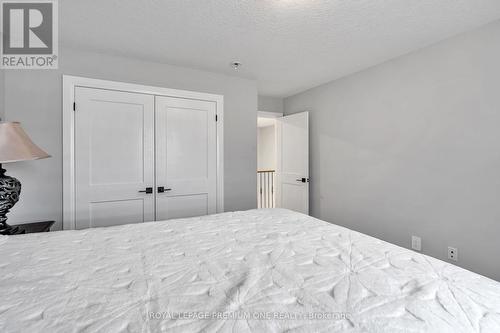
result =
[[[500,22],[285,99],[314,216],[500,280]]]

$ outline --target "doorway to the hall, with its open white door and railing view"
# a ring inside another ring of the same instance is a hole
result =
[[[309,214],[308,112],[258,112],[257,204]]]

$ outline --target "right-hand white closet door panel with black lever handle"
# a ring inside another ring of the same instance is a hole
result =
[[[216,103],[157,96],[155,114],[156,219],[215,213]]]

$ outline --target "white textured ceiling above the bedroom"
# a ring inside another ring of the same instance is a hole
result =
[[[64,0],[63,45],[289,96],[500,18],[500,0]],[[229,66],[239,60],[235,73]]]

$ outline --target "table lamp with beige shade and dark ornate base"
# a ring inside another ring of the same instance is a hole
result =
[[[5,174],[2,163],[38,160],[50,157],[31,141],[17,122],[0,122],[0,234],[15,234],[7,224],[7,213],[21,194],[21,182]]]

